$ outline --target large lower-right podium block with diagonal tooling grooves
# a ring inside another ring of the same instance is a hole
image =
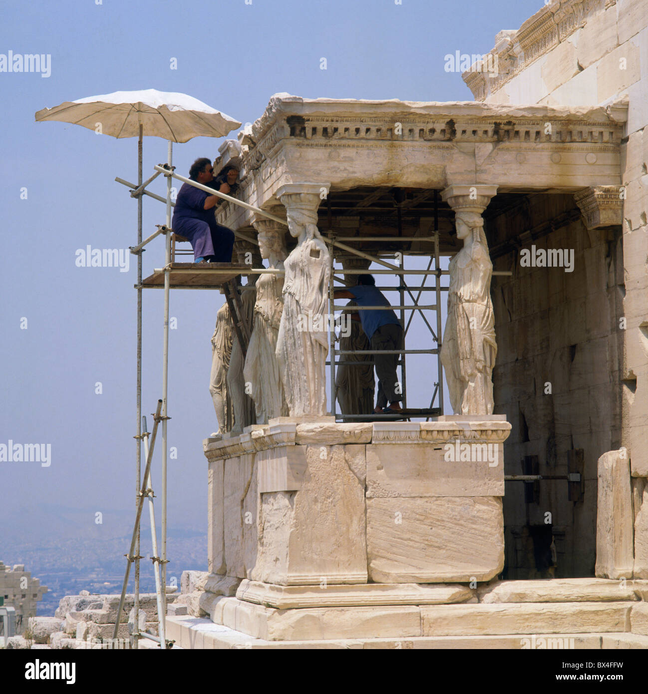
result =
[[[367,558],[376,583],[488,581],[504,566],[502,500],[367,499]]]

